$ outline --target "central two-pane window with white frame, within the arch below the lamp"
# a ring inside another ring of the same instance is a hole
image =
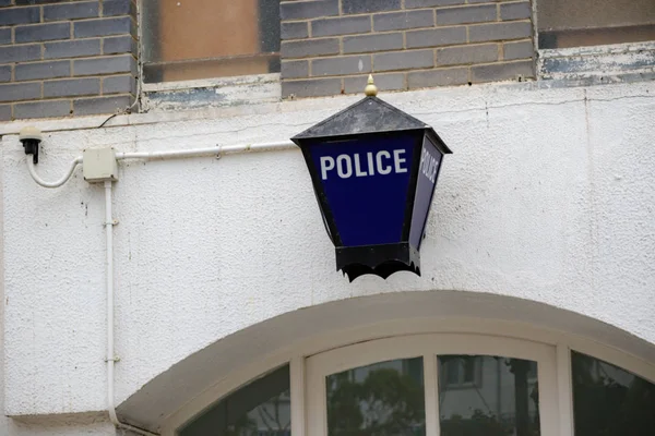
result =
[[[308,359],[307,377],[310,435],[558,429],[555,348],[535,342],[476,335],[381,339]]]

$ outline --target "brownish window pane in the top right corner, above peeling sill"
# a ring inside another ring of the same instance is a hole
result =
[[[653,0],[539,0],[540,48],[655,40]]]

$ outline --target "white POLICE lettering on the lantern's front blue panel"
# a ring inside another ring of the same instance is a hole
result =
[[[361,156],[358,153],[353,156],[338,155],[336,158],[321,156],[321,178],[327,180],[330,171],[336,171],[341,179],[407,172],[407,159],[404,155],[404,149],[394,149],[393,152],[369,152]]]

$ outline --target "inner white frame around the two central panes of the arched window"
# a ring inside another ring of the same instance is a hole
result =
[[[484,354],[537,362],[541,436],[559,435],[556,349],[537,342],[484,335],[418,335],[380,339],[331,350],[307,360],[307,423],[311,436],[327,435],[325,377],[394,359],[422,356],[426,436],[439,436],[437,355]]]

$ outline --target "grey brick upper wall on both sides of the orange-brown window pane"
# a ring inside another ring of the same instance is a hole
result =
[[[0,0],[0,121],[130,107],[136,1]],[[283,0],[279,11],[283,98],[361,93],[369,73],[383,90],[534,77],[528,0]]]

